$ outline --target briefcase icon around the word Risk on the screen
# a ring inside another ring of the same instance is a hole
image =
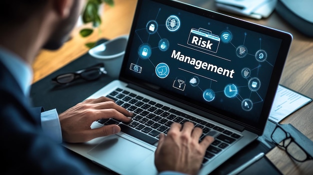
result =
[[[187,44],[210,52],[217,52],[220,38],[204,28],[191,28]]]

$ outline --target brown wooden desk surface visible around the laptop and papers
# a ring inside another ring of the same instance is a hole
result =
[[[114,0],[115,6],[104,6],[102,15],[102,24],[100,32],[95,31],[90,37],[81,38],[78,31],[82,26],[76,27],[71,36],[71,40],[57,51],[42,50],[33,63],[34,70],[33,82],[49,75],[53,71],[66,65],[73,59],[87,52],[85,43],[96,41],[97,38],[114,38],[122,34],[128,34],[130,31],[132,17],[137,0]],[[181,0],[192,3],[206,9],[216,10],[213,0]],[[225,13],[225,12],[223,12]],[[233,14],[230,14],[233,15]],[[233,15],[236,16],[236,15]],[[277,28],[290,32],[293,35],[292,45],[287,57],[280,84],[291,88],[308,97],[313,97],[313,38],[308,38],[273,12],[268,18],[255,20],[242,16],[236,16],[251,22]],[[118,21],[118,22],[116,22]],[[309,139],[313,140],[313,103],[310,103],[300,110],[296,111],[286,119],[282,124],[291,123],[295,128],[302,132]],[[274,148],[266,157],[284,174],[284,175],[303,175],[313,174],[313,161],[297,163],[292,161],[284,151]]]

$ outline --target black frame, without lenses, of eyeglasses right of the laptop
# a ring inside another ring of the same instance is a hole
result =
[[[284,134],[285,134],[285,139],[283,139],[283,140],[280,142],[280,143],[282,143],[282,144],[277,143],[277,142],[273,139],[273,134],[275,133],[275,131],[276,131],[277,128],[279,128],[279,129],[280,129],[281,131],[283,131]],[[305,162],[305,161],[307,161],[307,160],[312,160],[312,159],[313,159],[310,155],[307,154],[307,152],[306,152],[298,143],[295,142],[295,140],[294,140],[294,138],[291,136],[291,134],[288,133],[288,132],[286,132],[281,126],[279,126],[279,124],[276,124],[276,127],[275,127],[275,129],[273,130],[273,132],[271,133],[270,138],[271,138],[271,140],[278,146],[278,148],[283,149],[283,150],[287,153],[287,155],[288,155],[289,157],[291,157],[293,160],[295,160],[295,161],[297,161],[297,162]],[[290,139],[289,143],[288,143],[288,144],[285,144],[285,142],[286,142],[288,139]],[[303,153],[305,153],[306,159],[304,159],[304,160],[298,160],[298,159],[294,158],[294,157],[287,151],[287,150],[288,150],[287,148],[288,148],[288,146],[289,146],[291,143],[294,143],[295,145],[297,145],[297,147],[300,148],[300,149],[303,151]]]

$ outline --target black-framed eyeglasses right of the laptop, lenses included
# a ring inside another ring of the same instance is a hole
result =
[[[312,157],[295,142],[290,133],[286,132],[281,126],[276,125],[270,137],[279,148],[285,150],[288,156],[295,161],[304,162],[312,159]]]

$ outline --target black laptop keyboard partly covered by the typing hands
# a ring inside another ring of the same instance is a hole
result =
[[[158,141],[159,134],[167,134],[170,125],[174,122],[183,124],[188,121],[192,122],[195,127],[201,128],[203,133],[200,140],[206,135],[215,137],[214,142],[206,150],[202,164],[212,159],[241,137],[239,134],[222,127],[197,119],[121,88],[115,89],[106,97],[131,111],[133,113],[132,121],[124,123],[114,119],[101,119],[97,122],[102,125],[116,124],[123,133],[148,144],[154,145]]]

